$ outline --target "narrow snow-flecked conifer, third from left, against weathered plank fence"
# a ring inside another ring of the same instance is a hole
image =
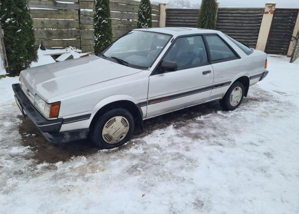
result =
[[[149,0],[141,0],[138,9],[137,28],[151,27],[151,5]]]

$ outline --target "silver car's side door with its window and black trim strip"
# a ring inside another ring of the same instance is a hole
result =
[[[159,66],[149,77],[147,117],[209,100],[214,72],[201,36],[176,39],[163,61],[175,62],[178,68],[164,72]]]

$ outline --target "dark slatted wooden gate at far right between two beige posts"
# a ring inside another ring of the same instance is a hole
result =
[[[287,55],[297,16],[298,9],[275,9],[266,53]]]

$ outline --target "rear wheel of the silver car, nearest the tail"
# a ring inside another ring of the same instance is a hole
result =
[[[225,110],[235,110],[242,103],[244,97],[244,86],[240,82],[234,83],[220,100],[220,105]]]

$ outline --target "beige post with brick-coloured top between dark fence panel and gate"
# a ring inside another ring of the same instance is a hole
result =
[[[256,49],[265,51],[276,3],[266,3]]]

